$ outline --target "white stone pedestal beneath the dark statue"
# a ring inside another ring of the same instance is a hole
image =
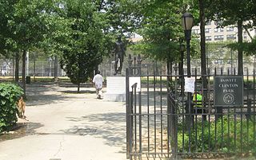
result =
[[[126,101],[126,76],[106,77],[106,100],[114,102]]]

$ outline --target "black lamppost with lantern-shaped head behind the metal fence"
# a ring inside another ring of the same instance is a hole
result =
[[[190,13],[185,13],[182,15],[182,27],[184,29],[185,38],[186,38],[186,60],[187,60],[187,77],[191,76],[191,70],[190,70],[190,39],[191,39],[191,29],[193,26],[193,15]],[[187,92],[187,109],[186,112],[189,114],[192,113],[192,107],[191,107],[191,92]],[[188,111],[187,111],[188,110]],[[188,116],[188,119],[186,119],[187,127],[190,131],[190,124],[191,124],[191,116]]]

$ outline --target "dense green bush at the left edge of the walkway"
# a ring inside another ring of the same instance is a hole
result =
[[[9,131],[17,121],[17,101],[23,95],[23,90],[16,84],[0,84],[0,133]]]

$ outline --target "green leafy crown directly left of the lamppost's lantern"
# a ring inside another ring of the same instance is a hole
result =
[[[138,33],[143,41],[133,49],[157,60],[179,55],[179,38],[183,37],[180,25],[181,2],[141,2],[142,21]],[[180,13],[180,14],[178,14]]]

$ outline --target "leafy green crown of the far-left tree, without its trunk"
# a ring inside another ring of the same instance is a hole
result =
[[[6,31],[9,35],[7,44],[12,49],[30,49],[42,41],[50,32],[48,19],[52,14],[54,2],[42,0],[19,0],[6,3]]]

